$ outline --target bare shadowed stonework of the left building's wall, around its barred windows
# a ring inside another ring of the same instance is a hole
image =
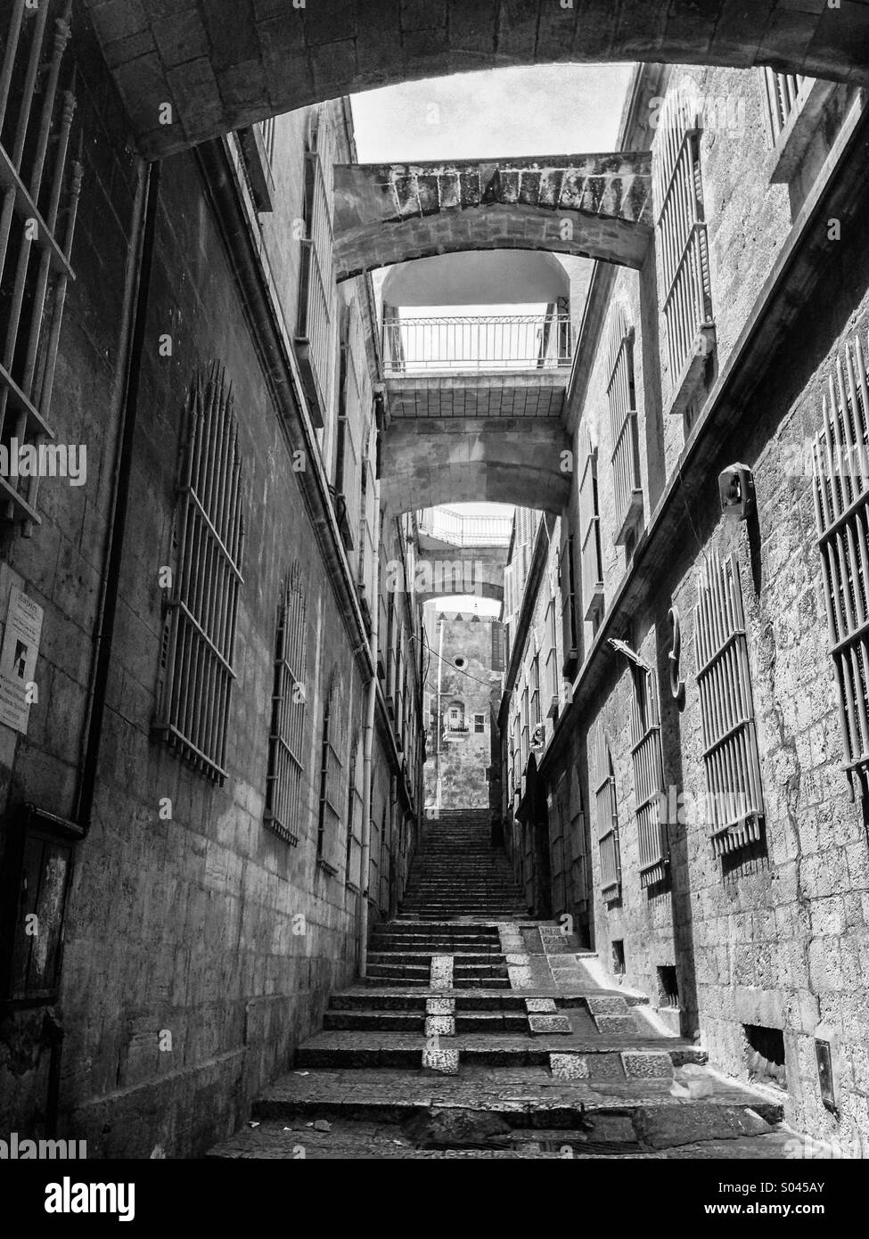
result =
[[[29,736],[16,740],[0,727],[9,815],[25,799],[53,814],[76,814],[113,436],[123,396],[119,333],[134,162],[114,87],[98,53],[89,51],[86,32],[73,47],[86,170],[72,255],[78,279],[69,290],[52,421],[61,440],[87,444],[88,481],[81,488],[46,482],[42,528],[30,541],[12,541],[5,550],[0,592],[7,596],[10,584],[21,584],[46,608],[40,701]],[[289,181],[300,182],[295,120],[281,129],[281,142]],[[298,213],[289,196],[265,242],[271,270],[280,271],[279,300],[290,333],[299,278],[291,225]],[[317,864],[316,836],[324,695],[335,668],[345,684],[341,756],[347,772],[351,742],[361,736],[364,719],[363,647],[326,559],[324,519],[315,524],[302,496],[260,341],[239,292],[227,247],[243,244],[242,237],[223,233],[198,156],[167,160],[138,374],[130,519],[97,797],[89,833],[76,846],[55,1007],[64,1031],[58,1134],[87,1140],[92,1157],[185,1156],[228,1135],[248,1113],[253,1093],[286,1068],[294,1046],[319,1025],[330,990],[346,984],[356,969],[361,895],[346,882],[346,818],[340,834],[326,840],[325,854],[336,872]],[[346,285],[346,296],[353,294]],[[157,347],[164,335],[172,338],[171,356]],[[197,370],[212,361],[226,367],[233,389],[245,522],[228,778],[222,787],[176,758],[152,730],[165,622],[157,574],[174,563],[188,390]],[[364,373],[364,356],[356,361]],[[366,388],[368,403],[369,395]],[[330,471],[331,435],[321,434]],[[309,458],[306,467],[312,466]],[[402,538],[407,534],[400,532]],[[295,847],[263,824],[275,616],[294,560],[305,589],[307,649],[301,676],[302,829]],[[351,569],[356,579],[356,556]],[[403,605],[398,623],[404,646],[412,646],[412,606]],[[405,674],[410,686],[398,740],[412,795],[418,797],[413,655]],[[378,711],[373,919],[394,911],[415,841],[412,814],[419,802],[408,803],[404,776],[395,777],[395,742],[392,725]],[[171,802],[169,820],[160,817],[161,800]],[[2,1026],[0,1108],[15,1116],[22,1132],[43,1130],[46,1118],[42,1014],[16,1012]]]

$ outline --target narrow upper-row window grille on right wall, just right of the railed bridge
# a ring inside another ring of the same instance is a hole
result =
[[[633,327],[624,306],[614,305],[607,333],[606,399],[610,406],[615,543],[622,545],[642,522],[640,440],[633,383]]]

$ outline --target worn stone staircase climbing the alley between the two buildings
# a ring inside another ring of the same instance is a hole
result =
[[[217,1158],[782,1156],[783,1094],[710,1070],[557,924],[487,814],[429,823],[368,976]]]

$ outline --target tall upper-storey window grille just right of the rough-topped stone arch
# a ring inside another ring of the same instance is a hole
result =
[[[689,362],[702,361],[714,341],[699,141],[698,97],[684,84],[661,109],[652,166],[658,292],[673,392]],[[674,403],[672,411],[683,409]]]

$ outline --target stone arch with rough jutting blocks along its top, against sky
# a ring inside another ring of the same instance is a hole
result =
[[[335,275],[461,250],[522,249],[638,268],[650,151],[335,167]]]

